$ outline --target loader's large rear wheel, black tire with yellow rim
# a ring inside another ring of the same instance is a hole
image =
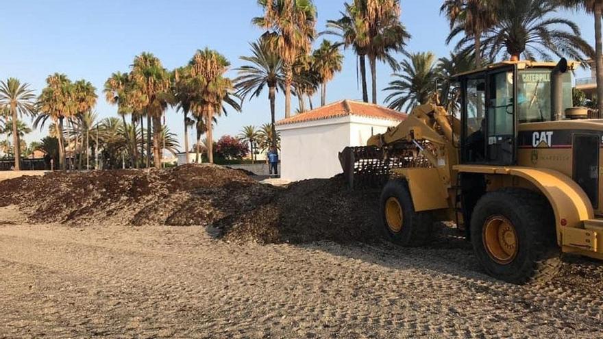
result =
[[[471,217],[471,242],[487,273],[513,284],[548,281],[561,266],[552,208],[531,190],[484,194]]]

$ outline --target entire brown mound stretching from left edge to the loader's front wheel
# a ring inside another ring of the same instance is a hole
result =
[[[34,223],[200,225],[236,242],[371,240],[378,196],[349,191],[340,177],[275,188],[194,164],[20,177],[1,181],[0,192],[0,206],[19,205]]]

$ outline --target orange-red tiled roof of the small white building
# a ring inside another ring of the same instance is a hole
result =
[[[406,118],[406,114],[400,113],[389,108],[384,108],[380,105],[373,105],[371,103],[363,103],[351,100],[337,101],[330,105],[325,105],[316,110],[304,112],[285,118],[278,121],[276,125],[288,125],[293,123],[305,123],[306,121],[316,121],[329,118],[336,118],[340,116],[367,116],[369,118],[378,118],[384,120],[403,121]]]

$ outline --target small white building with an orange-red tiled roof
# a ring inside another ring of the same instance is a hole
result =
[[[339,152],[367,145],[370,136],[404,118],[406,114],[379,105],[343,100],[278,121],[281,177],[297,181],[341,173]]]

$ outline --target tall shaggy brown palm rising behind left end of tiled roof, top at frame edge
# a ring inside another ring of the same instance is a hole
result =
[[[316,8],[312,0],[258,0],[264,16],[252,23],[266,29],[264,36],[283,61],[285,117],[291,116],[293,63],[312,48],[315,36]]]

